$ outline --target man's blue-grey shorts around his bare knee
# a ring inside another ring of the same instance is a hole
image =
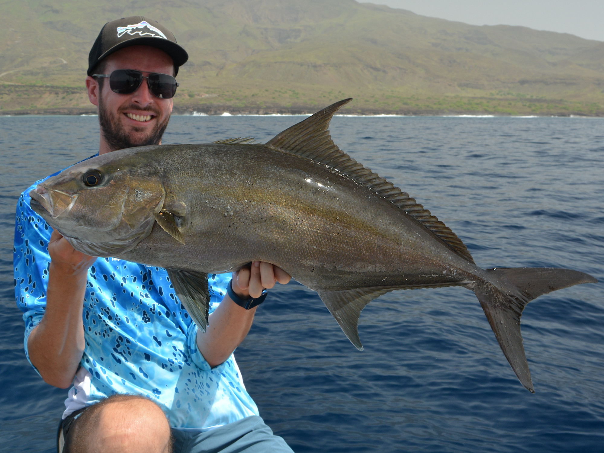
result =
[[[69,451],[69,428],[84,410],[79,410],[59,423],[57,452]],[[262,418],[246,417],[210,431],[181,431],[172,428],[174,453],[294,453],[283,438],[272,434]],[[64,448],[66,444],[66,448]]]

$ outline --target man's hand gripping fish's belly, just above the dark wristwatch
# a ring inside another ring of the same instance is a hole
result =
[[[249,268],[246,266],[233,274],[232,286],[235,294],[243,299],[250,296],[257,298],[263,289],[271,289],[277,281],[287,284],[291,278],[287,272],[271,263],[254,261]]]

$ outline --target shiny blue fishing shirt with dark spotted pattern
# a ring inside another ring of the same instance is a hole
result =
[[[29,192],[36,184],[19,198],[13,249],[14,292],[24,312],[28,360],[27,339],[46,308],[52,232],[30,207]],[[210,275],[210,313],[230,278]],[[259,415],[234,356],[211,368],[197,349],[197,326],[165,269],[98,258],[88,271],[83,303],[86,345],[63,418],[114,393],[152,398],[174,428],[205,431]]]

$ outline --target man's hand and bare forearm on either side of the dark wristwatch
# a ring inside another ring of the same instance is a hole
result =
[[[283,269],[270,263],[254,261],[251,266],[233,274],[233,291],[239,297],[247,299],[260,297],[263,289],[270,289],[278,281],[286,284],[291,279]],[[239,346],[254,321],[254,307],[246,310],[234,303],[228,294],[219,307],[210,315],[208,330],[197,332],[197,346],[211,367],[222,364]]]

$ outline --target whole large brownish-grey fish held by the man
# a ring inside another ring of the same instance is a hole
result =
[[[518,379],[533,384],[520,317],[539,295],[596,282],[569,269],[481,269],[444,223],[333,143],[339,101],[266,144],[144,146],[69,167],[31,207],[89,255],[161,266],[201,329],[207,274],[251,261],[318,292],[350,341],[361,310],[395,289],[474,291]]]

